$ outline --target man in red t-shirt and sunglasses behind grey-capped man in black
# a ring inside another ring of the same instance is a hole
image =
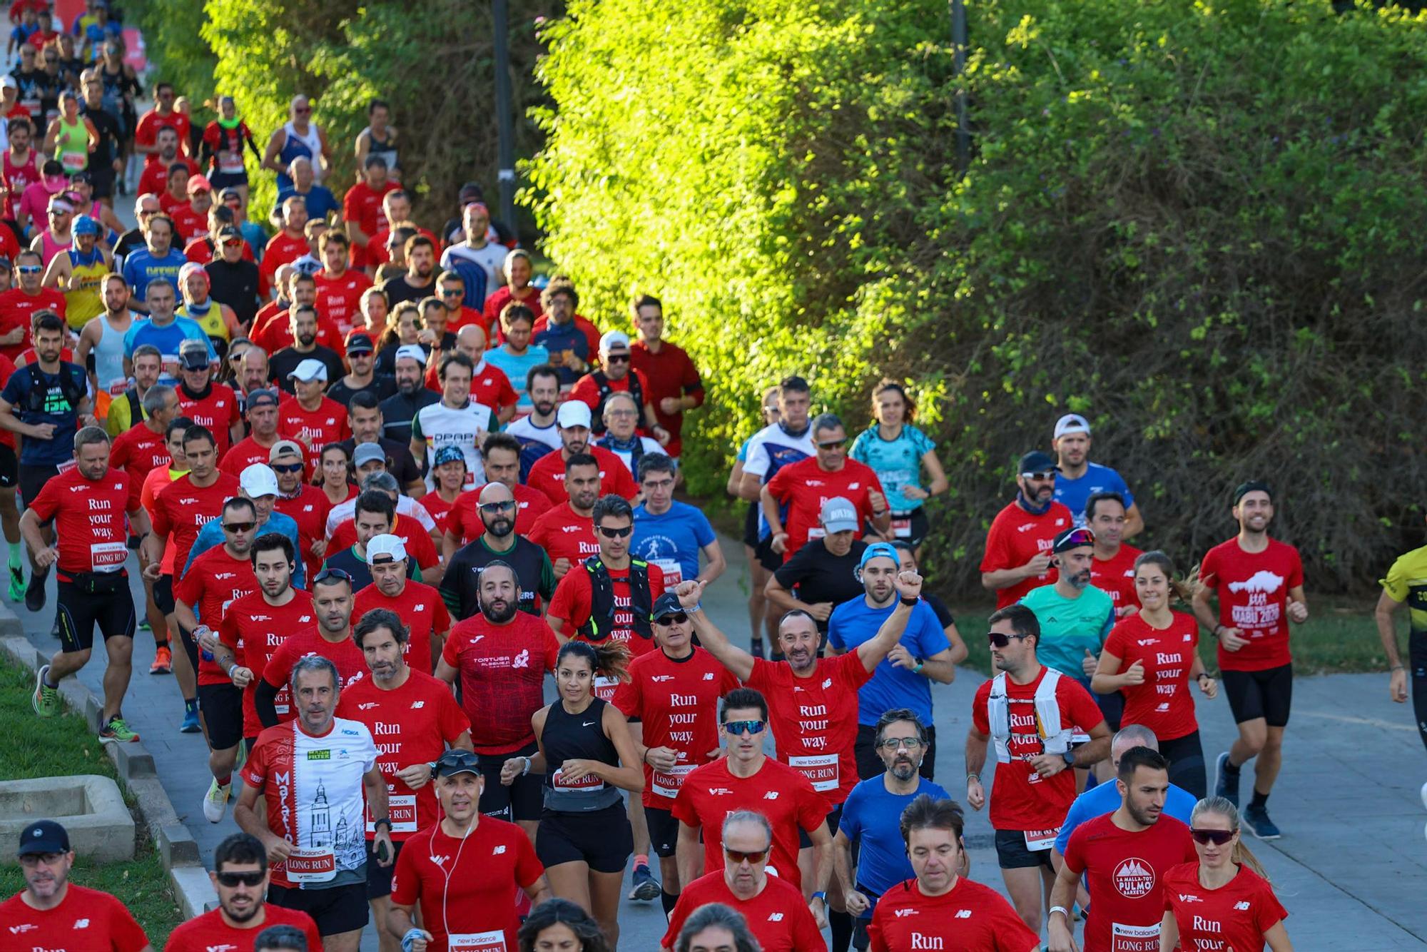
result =
[[[848,458],[848,431],[833,414],[822,414],[812,421],[812,442],[816,455],[781,467],[763,484],[761,505],[772,532],[775,552],[791,559],[808,540],[822,538],[822,504],[842,498],[858,510],[858,528],[852,538],[862,538],[862,527],[872,527],[883,535],[892,528],[892,510],[882,495],[882,481],[872,467]]]

